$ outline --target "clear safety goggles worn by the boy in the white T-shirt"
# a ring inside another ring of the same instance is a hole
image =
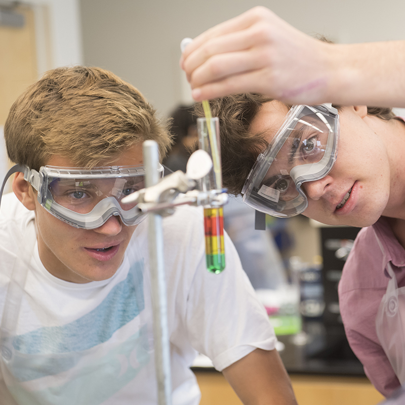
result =
[[[92,170],[43,166],[39,172],[17,166],[14,171],[24,172],[24,180],[37,191],[42,207],[76,228],[98,228],[113,215],[119,216],[129,226],[139,224],[145,217],[136,203],[124,204],[121,201],[125,196],[145,188],[143,166]],[[161,165],[159,176],[163,177]]]

